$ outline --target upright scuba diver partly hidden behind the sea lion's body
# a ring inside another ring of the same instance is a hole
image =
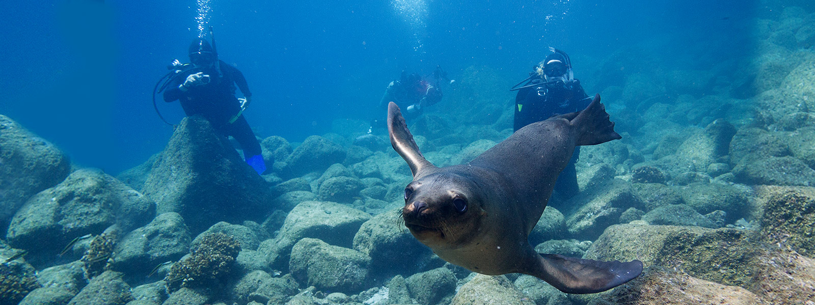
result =
[[[575,79],[571,60],[562,50],[549,48],[550,53],[529,73],[529,77],[514,85],[511,91],[518,90],[515,97],[515,120],[513,131],[528,124],[546,120],[553,115],[581,111],[588,107],[592,98]],[[523,85],[522,85],[523,84]],[[519,87],[520,86],[520,87]],[[564,199],[579,193],[575,163],[580,155],[580,147],[575,147],[572,158],[555,182],[555,191]]]

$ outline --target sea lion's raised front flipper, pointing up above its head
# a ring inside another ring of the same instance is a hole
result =
[[[430,161],[425,159],[425,156],[421,155],[419,146],[416,145],[416,141],[413,141],[413,135],[407,129],[402,111],[399,111],[399,106],[396,106],[394,102],[388,104],[388,133],[390,133],[390,145],[394,146],[394,150],[402,156],[402,159],[405,159],[414,178],[423,170],[435,168]]]

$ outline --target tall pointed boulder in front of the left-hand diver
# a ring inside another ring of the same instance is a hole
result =
[[[271,199],[267,182],[199,116],[178,124],[143,193],[159,213],[180,214],[196,233],[218,221],[262,220]]]

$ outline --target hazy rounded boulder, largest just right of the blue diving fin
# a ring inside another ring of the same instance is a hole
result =
[[[311,136],[294,149],[286,160],[282,174],[287,177],[302,176],[309,172],[324,171],[333,163],[342,163],[346,150],[325,137]]]

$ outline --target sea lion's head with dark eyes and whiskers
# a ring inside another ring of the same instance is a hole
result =
[[[404,190],[405,226],[427,246],[463,245],[478,233],[482,196],[473,182],[449,172],[412,181]]]

